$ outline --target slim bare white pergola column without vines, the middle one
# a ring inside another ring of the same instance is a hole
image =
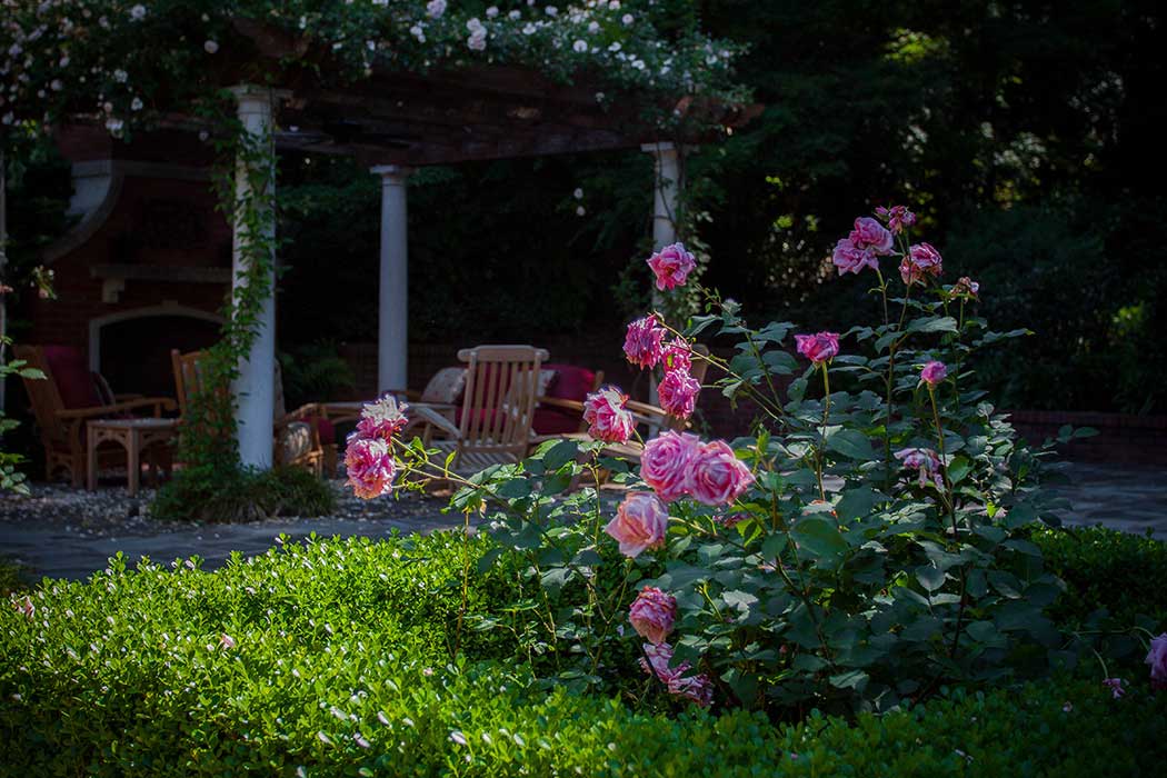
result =
[[[380,285],[377,320],[377,393],[406,388],[410,356],[410,252],[405,183],[410,169],[372,168],[380,176]]]

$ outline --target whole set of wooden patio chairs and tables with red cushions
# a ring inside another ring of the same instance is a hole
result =
[[[144,464],[154,481],[172,470],[174,443],[189,423],[193,398],[203,388],[205,352],[172,352],[176,400],[114,395],[100,373],[90,370],[81,349],[25,345],[16,346],[15,356],[46,377],[26,378],[25,387],[44,449],[47,478],[63,474],[75,488],[84,482],[92,490],[99,472],[124,464],[134,496]],[[547,351],[530,345],[478,345],[462,349],[457,359],[461,365],[439,370],[421,392],[389,392],[408,404],[405,436],[420,436],[427,449],[442,453],[442,460],[453,454],[454,471],[470,474],[517,462],[551,439],[587,439],[584,400],[602,384],[602,371],[548,364]],[[274,379],[275,463],[335,475],[336,430],[355,423],[364,402],[309,402],[287,412],[278,363]],[[628,408],[645,439],[684,426],[652,405],[629,401]],[[615,453],[638,456],[638,444],[620,448]]]

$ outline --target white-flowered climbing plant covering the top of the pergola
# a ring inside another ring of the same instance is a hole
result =
[[[553,78],[569,78],[587,66],[612,85],[676,94],[725,83],[732,59],[727,47],[696,36],[666,42],[651,23],[651,15],[663,10],[650,10],[651,1],[626,5],[529,0],[526,7],[505,12],[491,5],[478,12],[481,17],[471,17],[447,0],[415,5],[347,0],[344,13],[335,7],[326,13],[308,0],[285,0],[272,12],[271,23],[302,30],[329,47],[342,65],[351,68],[351,76],[369,75],[378,65],[457,66],[473,56],[525,65]],[[165,55],[167,45],[201,47],[202,56],[219,55],[231,29],[223,7],[208,8],[201,14],[201,28],[167,41],[144,37],[144,26],[161,26],[169,13],[145,1],[0,0],[0,122],[5,125],[26,120],[48,125],[78,100],[91,99],[110,132],[121,133],[147,105],[166,110],[144,84],[181,85],[188,96],[209,94],[221,86],[204,80],[214,69],[198,64],[184,72],[147,69],[159,62],[197,63],[189,56],[155,56]],[[605,92],[598,92],[596,100],[605,103]]]

